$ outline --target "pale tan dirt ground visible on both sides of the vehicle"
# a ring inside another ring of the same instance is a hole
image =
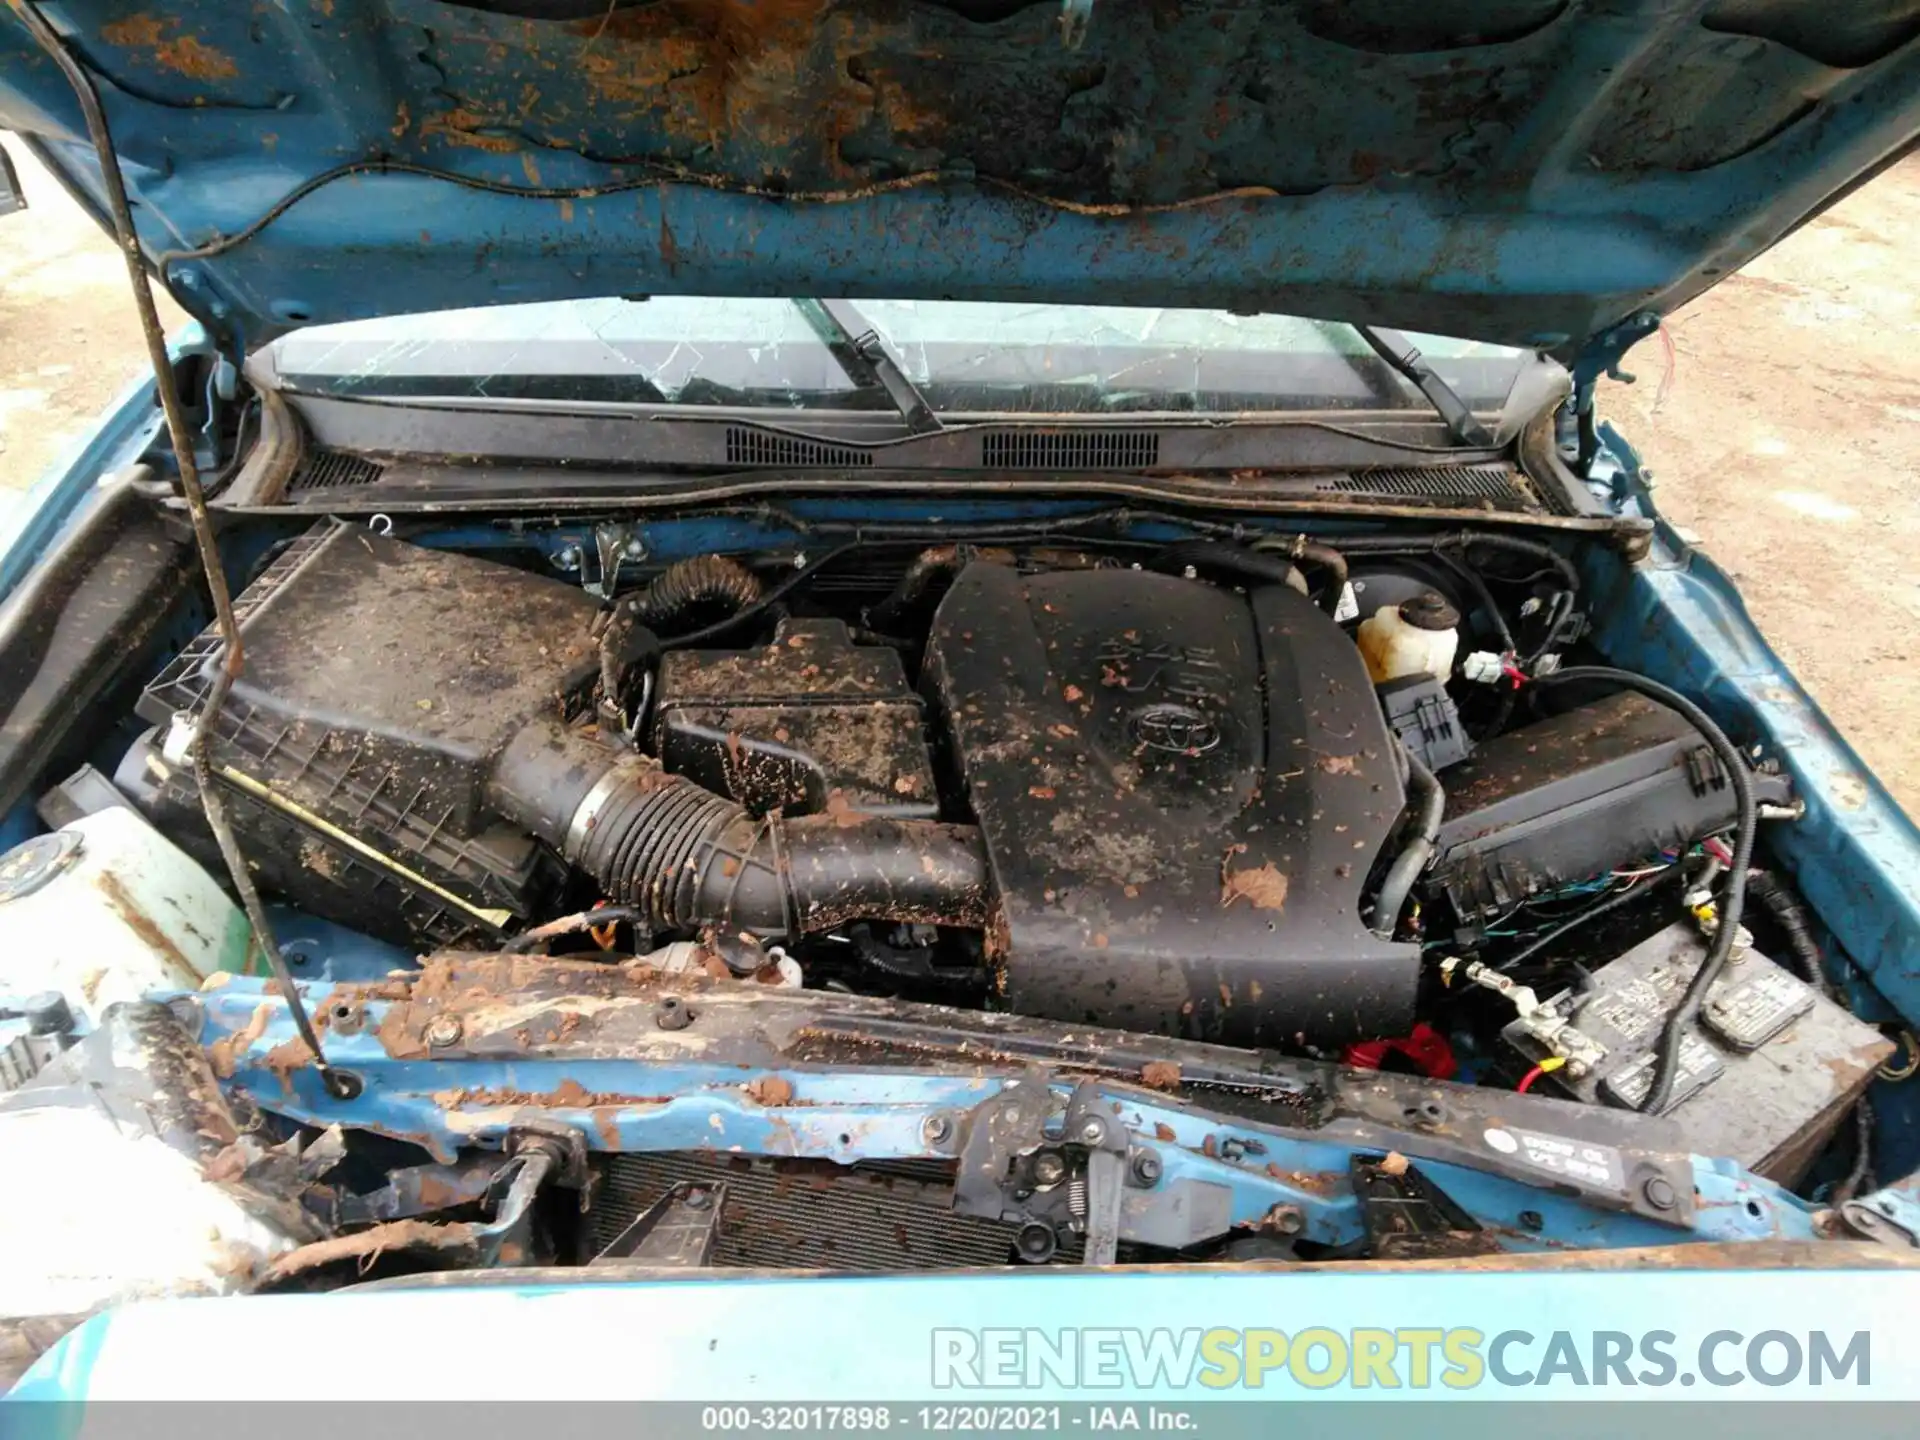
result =
[[[12,138],[0,507],[144,365],[113,248]],[[169,323],[179,311],[161,298]],[[1920,159],[1676,315],[1603,411],[1814,699],[1920,814]]]

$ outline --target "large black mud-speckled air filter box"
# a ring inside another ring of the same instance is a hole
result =
[[[499,822],[486,778],[507,737],[582,710],[597,674],[580,589],[349,526],[296,540],[236,599],[246,670],[213,760],[248,860],[296,904],[397,943],[453,943],[540,910],[564,866]],[[200,710],[219,636],[140,699]],[[152,745],[117,780],[190,849],[192,774]]]

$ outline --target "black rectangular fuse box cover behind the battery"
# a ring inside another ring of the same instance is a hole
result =
[[[1753,776],[1786,804],[1786,778]],[[1734,824],[1734,791],[1676,710],[1632,691],[1484,741],[1446,776],[1434,883],[1463,922],[1692,845]]]

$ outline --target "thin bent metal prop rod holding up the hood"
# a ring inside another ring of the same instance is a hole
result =
[[[213,597],[213,616],[221,632],[225,657],[213,678],[213,685],[207,691],[200,718],[194,722],[192,756],[194,781],[200,787],[200,803],[205,806],[207,826],[213,829],[213,839],[219,841],[221,856],[227,860],[227,872],[232,876],[234,889],[240,893],[240,904],[246,910],[248,924],[253,927],[253,941],[259,945],[261,954],[265,954],[267,968],[273,970],[273,977],[278,983],[280,996],[286,1000],[294,1029],[300,1031],[300,1039],[305,1043],[307,1050],[313,1052],[313,1064],[321,1073],[321,1083],[334,1098],[351,1100],[361,1092],[361,1081],[351,1071],[328,1066],[326,1056],[321,1052],[321,1037],[313,1029],[313,1018],[307,1016],[305,1000],[300,995],[300,987],[294,983],[294,973],[286,966],[286,956],[280,954],[280,947],[273,939],[273,929],[267,924],[267,910],[259,900],[259,887],[253,885],[253,876],[246,868],[246,858],[240,854],[240,841],[234,839],[232,824],[227,818],[227,801],[219,789],[221,781],[215,780],[213,762],[207,755],[213,741],[213,728],[219,724],[219,714],[227,705],[227,695],[244,664],[240,626],[234,620],[232,591],[227,588],[227,570],[221,566],[219,541],[213,536],[213,518],[207,515],[207,495],[200,486],[200,468],[194,465],[194,442],[186,430],[186,413],[180,407],[180,392],[175,384],[173,363],[167,355],[167,332],[159,323],[159,311],[154,305],[154,292],[148,286],[146,263],[140,255],[140,236],[132,225],[132,207],[127,204],[127,180],[121,175],[119,156],[113,150],[113,134],[108,131],[108,117],[100,108],[100,92],[94,88],[92,79],[81,67],[79,60],[73,58],[73,52],[67,50],[65,42],[48,23],[46,15],[40,13],[35,0],[6,2],[13,13],[19,15],[21,25],[27,27],[27,33],[33,35],[35,42],[46,50],[48,58],[60,67],[60,73],[67,77],[67,84],[73,86],[73,94],[81,102],[81,113],[86,117],[86,134],[100,156],[100,179],[108,192],[108,211],[113,219],[113,238],[119,244],[121,259],[127,263],[127,282],[132,286],[134,309],[140,315],[140,332],[146,338],[146,357],[154,367],[154,388],[159,392],[159,409],[167,417],[167,440],[173,444],[173,459],[179,467],[180,499],[186,503],[186,515],[194,526],[194,547],[200,551],[200,564],[207,574],[207,591]]]

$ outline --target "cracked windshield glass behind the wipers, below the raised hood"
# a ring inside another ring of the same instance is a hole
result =
[[[818,301],[570,300],[290,334],[280,380],[334,396],[889,409],[849,338],[872,332],[939,413],[1423,409],[1357,330],[1227,311],[862,300],[851,336]],[[1526,351],[1409,336],[1471,405],[1498,407]]]

